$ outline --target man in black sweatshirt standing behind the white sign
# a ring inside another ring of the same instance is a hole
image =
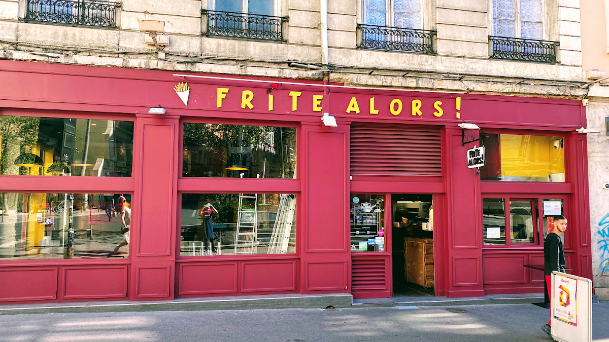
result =
[[[565,272],[565,251],[560,235],[567,230],[567,219],[563,215],[554,217],[554,229],[547,234],[543,243],[544,274],[546,275],[547,294],[552,298],[552,271]],[[551,334],[552,308],[550,308],[550,320],[541,329]]]

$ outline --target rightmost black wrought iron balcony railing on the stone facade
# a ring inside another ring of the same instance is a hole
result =
[[[557,63],[558,41],[488,36],[491,58]]]

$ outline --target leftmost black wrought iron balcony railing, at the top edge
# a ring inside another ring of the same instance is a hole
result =
[[[117,7],[97,0],[27,0],[26,21],[116,27]]]

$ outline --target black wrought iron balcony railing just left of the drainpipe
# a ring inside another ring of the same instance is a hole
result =
[[[208,36],[251,38],[284,41],[283,23],[287,16],[259,15],[255,13],[202,10],[207,16]]]

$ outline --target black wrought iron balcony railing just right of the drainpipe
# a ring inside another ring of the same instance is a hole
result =
[[[357,24],[360,47],[387,51],[434,54],[435,30],[404,29],[392,26]]]

